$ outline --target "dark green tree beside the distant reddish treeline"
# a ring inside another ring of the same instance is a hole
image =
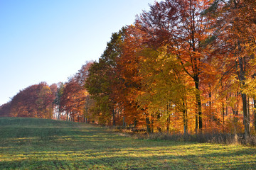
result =
[[[117,101],[114,100],[112,89],[115,86],[115,67],[117,67],[117,58],[121,54],[122,36],[124,28],[119,33],[113,33],[110,42],[99,59],[94,62],[89,69],[89,77],[85,87],[90,95],[96,101],[95,113],[100,119],[100,123],[116,124],[115,107]]]

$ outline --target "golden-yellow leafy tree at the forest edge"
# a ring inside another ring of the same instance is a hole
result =
[[[193,90],[190,88],[191,84],[186,82],[188,77],[182,72],[179,60],[169,55],[166,47],[158,50],[146,49],[142,56],[144,60],[139,64],[139,75],[142,77],[143,92],[138,97],[139,103],[147,106],[148,112],[159,119],[160,125],[167,123],[167,131],[170,118],[181,116],[183,132],[187,134],[188,98],[193,94]],[[180,127],[176,126],[178,130]]]

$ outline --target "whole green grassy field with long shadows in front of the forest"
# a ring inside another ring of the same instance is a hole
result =
[[[82,123],[0,118],[0,169],[255,168],[255,147],[136,140]]]

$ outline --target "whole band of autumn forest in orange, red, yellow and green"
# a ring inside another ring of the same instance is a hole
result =
[[[29,86],[1,116],[168,134],[256,132],[256,1],[165,0],[112,33],[67,82]]]

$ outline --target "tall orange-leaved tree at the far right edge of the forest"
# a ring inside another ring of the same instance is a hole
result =
[[[225,48],[215,46],[223,53],[223,59],[229,58],[234,79],[239,81],[238,91],[242,98],[243,124],[245,137],[250,137],[250,109],[247,95],[248,80],[253,79],[255,66],[255,1],[214,1],[209,10],[215,17],[215,42]],[[223,60],[222,59],[222,60]],[[231,70],[231,69],[230,69]],[[250,84],[250,83],[249,83]],[[250,90],[249,90],[250,91]]]

